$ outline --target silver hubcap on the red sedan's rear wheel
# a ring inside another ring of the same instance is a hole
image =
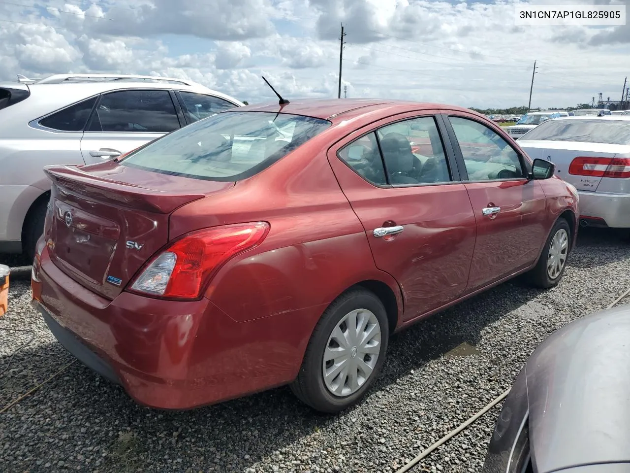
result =
[[[368,380],[381,353],[381,324],[374,313],[357,309],[348,313],[328,337],[322,372],[326,388],[349,396]]]

